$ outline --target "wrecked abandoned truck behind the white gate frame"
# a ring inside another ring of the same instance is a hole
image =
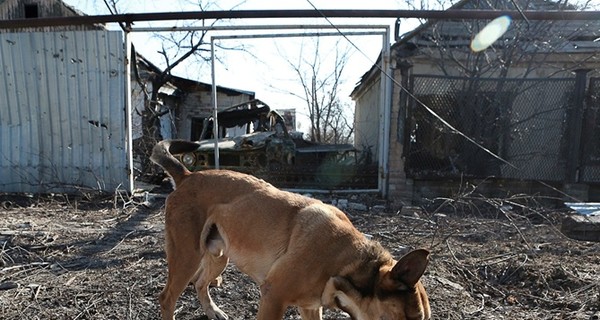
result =
[[[219,136],[212,117],[205,119],[198,148],[177,155],[191,171],[219,168],[249,173],[279,187],[371,188],[377,186],[377,165],[368,153],[350,144],[317,144],[289,132],[285,119],[255,99],[217,114]]]

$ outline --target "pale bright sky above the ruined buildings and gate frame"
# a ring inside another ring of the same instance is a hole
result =
[[[109,14],[104,1],[100,0],[64,0],[65,3],[88,15]],[[206,6],[205,10],[277,10],[277,9],[407,9],[404,0],[219,0],[193,1],[138,1],[120,0],[117,2],[119,13],[146,13],[146,12],[181,12],[199,11],[198,3]],[[393,34],[395,19],[333,19],[334,24],[368,24],[389,25]],[[330,22],[325,19],[247,19],[221,21],[219,25],[289,25],[289,24],[325,24]],[[136,27],[171,27],[185,25],[189,22],[138,22]],[[416,21],[404,21],[401,33],[408,32],[417,25]],[[118,25],[108,25],[109,29],[119,29]],[[349,31],[348,29],[346,29]],[[268,33],[291,33],[290,30],[269,30]],[[222,35],[256,34],[257,31],[229,31],[221,32]],[[216,33],[214,33],[216,35]],[[161,33],[170,36],[169,33]],[[210,35],[210,34],[209,34]],[[134,32],[132,42],[136,50],[157,66],[164,68],[164,58],[157,53],[161,49],[162,41],[156,33]],[[216,64],[216,82],[220,86],[253,91],[256,98],[263,100],[273,109],[295,108],[297,113],[297,126],[300,131],[308,131],[306,119],[306,102],[295,97],[290,92],[300,93],[302,86],[298,76],[290,66],[290,61],[296,63],[305,55],[312,55],[312,48],[316,38],[269,38],[269,39],[244,39],[220,40],[219,44],[225,47],[239,47],[244,50],[216,50],[219,63]],[[349,51],[349,58],[345,68],[339,96],[342,102],[352,105],[349,97],[352,89],[367,72],[377,59],[382,48],[383,38],[380,35],[349,36],[347,39],[338,36],[321,37],[320,63],[323,70],[332,68],[336,48]],[[196,59],[189,59],[186,63],[176,68],[173,73],[188,79],[211,83],[210,64],[200,63]]]

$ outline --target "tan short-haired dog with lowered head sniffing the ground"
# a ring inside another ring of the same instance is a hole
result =
[[[172,154],[196,147],[162,141],[151,157],[176,186],[166,203],[163,319],[173,319],[190,281],[206,315],[227,319],[208,287],[229,259],[260,286],[260,320],[282,319],[288,306],[298,306],[305,320],[321,319],[322,306],[356,320],[429,319],[419,281],[428,251],[412,251],[396,262],[333,206],[242,173],[191,173]]]

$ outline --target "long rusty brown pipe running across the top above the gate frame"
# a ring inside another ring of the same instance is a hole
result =
[[[0,20],[0,29],[28,27],[94,25],[104,23],[168,20],[216,20],[259,18],[418,18],[418,19],[495,19],[514,20],[600,20],[600,11],[505,11],[505,10],[228,10],[158,13],[126,13],[97,16],[52,17]]]

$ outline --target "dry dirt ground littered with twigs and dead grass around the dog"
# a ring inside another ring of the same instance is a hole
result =
[[[348,214],[396,256],[432,251],[424,284],[433,319],[599,319],[600,243],[563,236],[567,210],[513,200]],[[158,319],[163,207],[161,194],[0,195],[0,319]],[[255,318],[257,287],[235,267],[212,293],[230,319]],[[177,318],[205,318],[192,287]],[[346,317],[326,311],[325,318]],[[286,319],[299,316],[290,309]]]

